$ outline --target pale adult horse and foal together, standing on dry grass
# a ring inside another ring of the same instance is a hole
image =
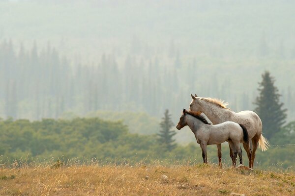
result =
[[[230,147],[230,156],[233,166],[236,166],[236,156],[239,155],[242,164],[243,144],[249,159],[249,168],[254,167],[257,147],[262,151],[267,150],[269,143],[262,135],[262,122],[253,111],[234,112],[226,106],[228,103],[214,98],[192,97],[189,111],[183,109],[183,114],[177,124],[177,129],[188,125],[194,133],[197,143],[202,148],[204,163],[207,163],[207,145],[217,145],[218,164],[221,164],[221,143],[227,141]],[[205,114],[213,123],[210,124],[201,115]]]

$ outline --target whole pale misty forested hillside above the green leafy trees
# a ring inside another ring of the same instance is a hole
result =
[[[294,120],[293,1],[52,2],[0,2],[3,118],[97,110],[159,118],[169,108],[177,121],[191,93],[253,110],[267,69]]]

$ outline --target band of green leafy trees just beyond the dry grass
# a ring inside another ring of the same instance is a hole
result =
[[[43,119],[42,121],[0,121],[1,164],[14,160],[42,162],[46,160],[71,159],[101,164],[122,162],[163,161],[165,163],[203,163],[202,151],[196,142],[177,144],[165,151],[156,134],[138,135],[128,131],[121,122],[103,121],[98,118],[76,118],[73,120]],[[191,133],[191,135],[193,135]],[[295,122],[289,123],[279,132],[271,144],[295,143]],[[284,168],[294,170],[294,146],[270,147],[256,155],[257,168]],[[230,165],[229,147],[223,145],[223,162]],[[247,157],[244,153],[244,164]],[[216,146],[208,146],[208,161],[217,163]]]

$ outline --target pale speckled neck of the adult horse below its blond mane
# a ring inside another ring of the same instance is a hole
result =
[[[213,124],[219,124],[228,121],[234,115],[230,109],[225,109],[212,103],[202,103],[203,113]]]

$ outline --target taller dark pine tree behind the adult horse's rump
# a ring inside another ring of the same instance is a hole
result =
[[[284,104],[279,101],[281,95],[274,86],[274,81],[268,71],[262,74],[262,82],[259,83],[258,88],[260,95],[254,103],[257,105],[255,111],[263,123],[263,133],[268,139],[281,130],[287,117],[287,110],[282,109]]]

